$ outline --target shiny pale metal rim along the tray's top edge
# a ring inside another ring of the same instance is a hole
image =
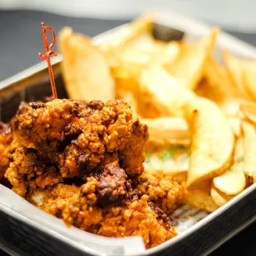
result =
[[[169,17],[170,14],[173,15],[172,12],[156,12],[156,13],[157,13],[157,15],[159,15],[159,17],[161,17],[161,16]],[[210,26],[206,26],[205,24],[201,23],[200,21],[194,21],[190,18],[183,17],[178,14],[174,14],[174,17],[176,17],[176,18],[179,17],[181,19],[185,19],[189,22],[192,22],[194,24],[193,26],[200,26],[202,31],[208,31],[210,28]],[[163,24],[162,21],[159,21],[159,22],[156,21],[156,23]],[[103,32],[102,34],[93,37],[92,40],[94,41],[94,43],[96,45],[98,45],[102,41],[108,40],[108,38],[110,38],[113,34],[119,33],[121,30],[125,30],[129,26],[129,24],[130,23],[126,23],[124,25],[117,26],[109,31]],[[223,31],[221,31],[220,36],[222,36],[222,38],[221,38],[222,40],[226,41],[227,45],[229,45],[231,43],[231,44],[236,44],[237,47],[245,47],[245,49],[247,49],[247,50],[245,50],[245,52],[251,53],[251,55],[253,55],[256,58],[256,47],[254,47],[253,45],[249,45],[248,43],[244,42],[243,40],[239,40],[235,36],[231,36],[230,34],[225,33]],[[57,67],[61,61],[62,61],[62,55],[58,55],[55,59],[52,60],[52,64],[54,67]],[[33,66],[31,66],[31,68],[25,69],[25,70],[21,71],[20,73],[13,75],[10,78],[2,80],[0,82],[0,92],[6,88],[12,88],[12,86],[14,84],[21,83],[24,79],[28,79],[31,76],[36,75],[41,72],[45,72],[46,70],[47,70],[47,65],[45,64],[45,62],[40,62],[39,64],[33,65]],[[191,235],[195,230],[200,230],[201,226],[204,225],[206,222],[210,222],[211,220],[214,220],[214,218],[216,216],[225,214],[225,211],[227,209],[229,209],[230,206],[234,206],[237,201],[245,199],[246,196],[250,192],[254,192],[254,191],[256,191],[256,183],[254,183],[250,187],[247,187],[243,192],[239,193],[239,195],[234,197],[232,200],[228,201],[224,206],[220,206],[220,208],[218,208],[216,211],[213,211],[211,214],[209,214],[208,216],[206,216],[205,218],[203,218],[202,220],[197,222],[197,224],[193,225],[191,228],[184,231],[182,234],[174,237],[173,239],[166,241],[164,244],[158,245],[157,247],[155,247],[153,249],[148,249],[145,252],[140,253],[140,254],[132,254],[132,256],[149,255],[149,254],[158,253],[158,252],[162,251],[163,249],[167,249],[172,244],[176,243],[178,240],[185,239],[186,236]],[[9,214],[11,216],[16,216],[16,218],[18,218],[20,220],[23,218],[24,219],[26,218],[25,216],[22,216],[21,213],[5,206],[1,202],[0,202],[0,204],[2,205],[2,206],[0,206],[0,209],[2,208],[3,210],[5,209],[5,210],[9,211]],[[207,250],[206,254],[210,254],[214,249],[217,249],[221,244],[225,243],[225,241],[232,238],[239,231],[244,230],[245,227],[247,227],[248,225],[253,223],[255,220],[256,220],[256,216],[255,216],[255,218],[244,223],[244,225],[240,225],[236,230],[234,230],[234,232],[232,232],[232,234],[228,234],[227,238],[220,240],[220,243],[216,244],[216,246],[214,246],[214,248],[210,248],[209,250]],[[35,224],[36,224],[36,221],[33,220],[32,222],[35,222]],[[53,233],[53,232],[55,233],[55,230],[51,230],[51,229],[45,227],[45,232],[47,232],[47,230],[50,230],[51,231],[50,233]],[[51,235],[53,235],[53,234],[51,234]],[[61,236],[63,236],[63,235],[61,235]],[[69,238],[67,238],[67,239],[69,240],[69,242],[70,241],[74,242],[72,239],[69,239]],[[84,249],[84,246],[82,244],[80,244],[80,246],[82,246]],[[87,249],[89,249],[89,248],[87,248]],[[97,255],[97,254],[95,254],[95,255]]]

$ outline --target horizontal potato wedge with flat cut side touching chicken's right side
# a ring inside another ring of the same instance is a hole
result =
[[[179,117],[141,118],[149,128],[149,142],[156,145],[190,145],[191,131]]]

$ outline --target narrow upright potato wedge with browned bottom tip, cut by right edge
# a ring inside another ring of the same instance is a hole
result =
[[[250,181],[256,182],[256,132],[248,121],[242,121],[244,132],[244,174]]]

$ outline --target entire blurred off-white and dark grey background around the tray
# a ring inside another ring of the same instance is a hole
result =
[[[150,9],[194,17],[256,45],[255,0],[0,0],[0,81],[40,62],[40,21],[56,33],[72,26],[97,36]],[[212,255],[256,255],[255,230],[249,227]]]

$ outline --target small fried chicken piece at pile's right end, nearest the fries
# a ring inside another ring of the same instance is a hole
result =
[[[170,214],[182,203],[185,187],[176,178],[163,172],[145,171],[133,180],[133,185],[149,196],[156,206]]]

